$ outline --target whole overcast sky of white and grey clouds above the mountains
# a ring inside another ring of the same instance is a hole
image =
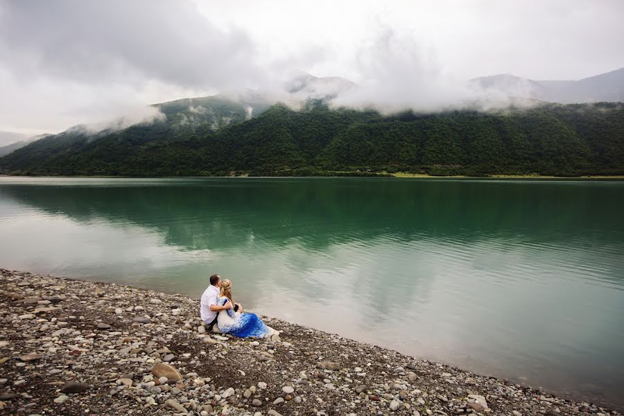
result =
[[[0,131],[273,88],[294,70],[390,97],[496,73],[580,79],[624,67],[623,21],[621,0],[0,0]]]

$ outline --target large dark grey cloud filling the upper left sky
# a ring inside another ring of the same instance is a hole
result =
[[[174,0],[7,1],[0,51],[16,76],[94,83],[153,78],[192,88],[259,84],[254,44]]]

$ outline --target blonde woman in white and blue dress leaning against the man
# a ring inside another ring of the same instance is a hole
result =
[[[235,304],[232,300],[232,282],[223,279],[220,283],[220,292],[217,300],[218,304],[225,306],[231,302],[232,308],[221,311],[217,318],[217,326],[221,332],[230,333],[233,336],[247,338],[250,336],[257,338],[268,338],[275,329],[267,327],[255,313],[243,313],[243,306]]]

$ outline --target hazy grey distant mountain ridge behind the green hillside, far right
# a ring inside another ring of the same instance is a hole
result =
[[[509,74],[471,80],[471,86],[486,95],[503,94],[553,103],[598,103],[624,101],[624,68],[582,80],[530,80]]]

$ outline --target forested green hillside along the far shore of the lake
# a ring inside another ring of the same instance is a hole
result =
[[[207,99],[218,100],[195,98]],[[310,102],[301,111],[273,105],[261,112],[264,107],[257,105],[252,119],[246,104],[214,101],[207,106],[209,112],[192,110],[198,104],[165,103],[161,109],[166,121],[116,132],[89,136],[69,130],[46,137],[0,158],[0,171],[128,176],[624,174],[624,107],[619,103],[383,116]],[[187,114],[189,109],[192,114]],[[189,116],[196,118],[189,121]]]

